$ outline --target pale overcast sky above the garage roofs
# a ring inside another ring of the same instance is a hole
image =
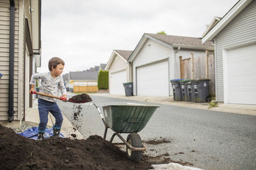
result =
[[[113,50],[134,50],[143,33],[200,38],[238,0],[43,0],[42,66],[65,61],[64,73],[106,64]]]

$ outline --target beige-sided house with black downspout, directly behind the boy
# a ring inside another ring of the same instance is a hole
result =
[[[32,106],[29,79],[40,67],[41,1],[0,2],[0,123],[19,127]]]

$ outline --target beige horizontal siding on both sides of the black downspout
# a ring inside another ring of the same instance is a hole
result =
[[[0,120],[8,120],[9,89],[9,41],[10,41],[10,1],[0,2]],[[19,1],[15,1],[15,45],[14,45],[14,120],[18,117],[18,79],[19,79]]]

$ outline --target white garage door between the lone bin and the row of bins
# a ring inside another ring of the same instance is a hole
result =
[[[138,96],[169,96],[168,61],[137,68]]]

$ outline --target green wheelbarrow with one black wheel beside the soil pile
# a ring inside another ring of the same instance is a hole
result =
[[[129,159],[138,162],[141,160],[142,153],[147,150],[143,146],[141,138],[137,132],[140,132],[153,113],[159,106],[147,104],[111,104],[102,106],[104,117],[100,112],[97,104],[93,103],[97,108],[102,122],[105,125],[104,139],[108,128],[115,133],[112,135],[110,142],[113,142],[115,136],[118,136],[124,143],[114,143],[115,145],[126,145],[126,152]],[[127,140],[125,140],[120,133],[129,133]]]

